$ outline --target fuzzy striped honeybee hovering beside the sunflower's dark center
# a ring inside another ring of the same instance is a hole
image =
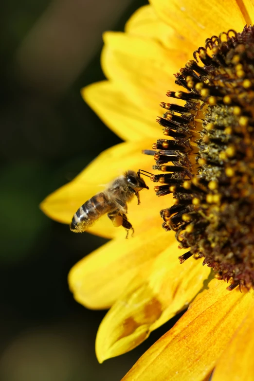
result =
[[[81,205],[73,216],[71,231],[75,233],[85,232],[93,222],[107,213],[115,227],[123,226],[126,229],[126,238],[130,229],[133,235],[134,229],[126,216],[127,202],[136,196],[139,205],[139,192],[144,188],[149,189],[141,178],[141,171],[143,170],[125,172],[124,175],[112,181],[103,192],[97,193]],[[145,173],[142,175],[148,176]]]

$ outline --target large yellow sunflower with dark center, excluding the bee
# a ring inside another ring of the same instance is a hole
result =
[[[98,172],[104,183],[128,168],[150,171],[141,151],[152,153],[159,173],[151,180],[166,197],[142,191],[141,206],[129,205],[133,239],[103,219],[91,227],[112,240],[69,275],[79,303],[110,308],[96,338],[98,360],[139,345],[191,303],[124,380],[201,381],[213,370],[216,381],[253,380],[254,29],[245,25],[254,21],[254,5],[150,3],[134,13],[124,33],[104,35],[108,80],[82,90],[125,142],[103,152],[41,207],[70,223],[98,191]],[[163,99],[166,90],[172,103]],[[156,125],[159,104],[165,111]]]

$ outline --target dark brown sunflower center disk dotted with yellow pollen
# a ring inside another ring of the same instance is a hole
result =
[[[157,118],[173,138],[153,146],[156,194],[175,199],[163,228],[189,248],[181,263],[204,257],[229,290],[254,288],[254,27],[207,39],[194,58],[175,74],[185,91],[167,92],[185,102],[161,103]]]

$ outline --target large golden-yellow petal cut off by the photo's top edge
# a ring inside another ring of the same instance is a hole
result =
[[[246,20],[236,0],[150,0],[159,17],[193,44],[203,46],[206,38],[234,29],[241,32]],[[191,58],[191,57],[189,57]]]

